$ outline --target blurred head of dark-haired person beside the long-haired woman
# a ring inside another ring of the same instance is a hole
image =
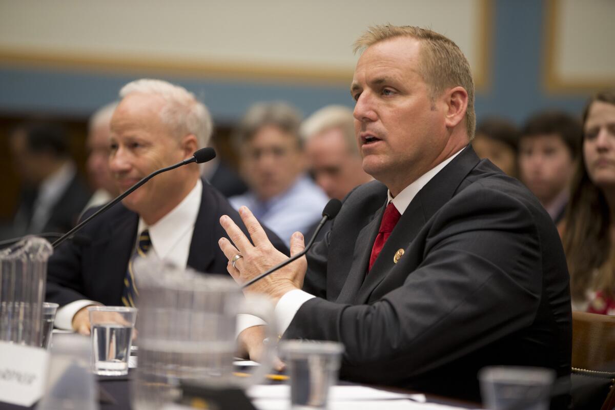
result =
[[[560,111],[539,112],[521,132],[520,179],[538,197],[555,224],[566,210],[581,133],[579,120]]]

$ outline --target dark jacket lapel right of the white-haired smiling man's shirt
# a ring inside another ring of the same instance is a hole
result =
[[[200,197],[199,215],[196,217],[194,223],[194,232],[192,232],[192,241],[190,242],[190,251],[188,253],[188,266],[192,269],[196,269],[199,272],[207,272],[207,268],[213,261],[215,248],[218,246],[213,240],[213,227],[218,222],[216,216],[217,210],[208,209],[207,204],[210,207],[213,200],[208,200],[208,189],[205,189],[205,184],[209,184],[203,181],[203,193]]]

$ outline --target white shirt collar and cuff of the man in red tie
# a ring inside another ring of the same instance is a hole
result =
[[[421,189],[432,179],[434,176],[442,170],[442,168],[446,167],[446,165],[453,160],[454,157],[459,155],[459,152],[463,151],[462,149],[456,152],[453,156],[448,157],[447,159],[440,162],[440,164],[436,165],[431,170],[427,171],[423,175],[421,175],[416,181],[405,187],[402,192],[397,194],[396,197],[392,197],[391,191],[387,192],[389,197],[388,202],[393,202],[395,208],[399,211],[401,215],[403,215],[410,202],[415,198],[416,194],[418,194]],[[301,305],[305,302],[309,301],[309,299],[315,298],[314,295],[304,292],[300,289],[295,289],[289,291],[280,298],[276,305],[276,319],[277,325],[279,328],[279,333],[284,334],[290,322],[293,321],[295,315]]]

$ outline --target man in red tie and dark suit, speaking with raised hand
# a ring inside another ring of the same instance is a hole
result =
[[[277,302],[284,337],[342,342],[347,379],[475,401],[483,366],[544,366],[566,382],[561,243],[538,200],[468,146],[474,84],[461,50],[395,26],[371,28],[357,48],[355,131],[377,181],[346,197],[307,259],[249,291]],[[240,215],[253,245],[223,217],[232,243],[220,246],[242,254],[229,272],[245,282],[284,256],[247,208]],[[291,254],[301,249],[295,234]]]

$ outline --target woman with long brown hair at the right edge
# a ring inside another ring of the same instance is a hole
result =
[[[615,90],[598,93],[585,108],[561,237],[573,309],[615,314]]]

